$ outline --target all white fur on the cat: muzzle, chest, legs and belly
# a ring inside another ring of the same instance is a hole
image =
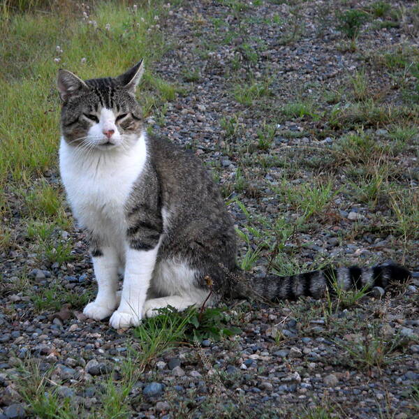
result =
[[[114,129],[112,123],[115,124],[113,112],[102,110],[99,123],[91,127],[88,136],[97,140],[101,132]],[[194,286],[196,271],[185,260],[164,260],[156,266],[163,236],[149,251],[128,246],[124,204],[145,167],[147,150],[145,133],[135,142],[131,138],[129,149],[124,145],[117,147],[117,141],[124,140],[118,135],[115,129],[110,138],[115,140],[114,148],[99,146],[87,151],[68,145],[61,138],[59,159],[61,178],[75,218],[80,226],[100,237],[102,243],[103,256],[93,258],[98,295],[84,308],[84,314],[101,320],[113,313],[110,325],[126,328],[138,325],[142,316],[156,315],[156,309],[168,304],[178,310],[203,304],[208,291]],[[170,210],[163,208],[164,233],[170,226],[170,215]],[[117,272],[121,267],[124,267],[124,284],[119,296]],[[147,293],[160,297],[146,302]]]

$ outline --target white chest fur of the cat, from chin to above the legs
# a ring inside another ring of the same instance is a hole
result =
[[[129,150],[80,152],[61,138],[59,166],[80,227],[105,242],[124,237],[124,204],[146,160],[145,133]]]

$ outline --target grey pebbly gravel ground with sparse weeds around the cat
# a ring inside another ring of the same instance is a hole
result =
[[[402,89],[386,88],[391,79],[374,64],[374,54],[404,43],[418,47],[415,22],[409,13],[398,27],[376,29],[369,22],[351,51],[336,29],[334,3],[237,3],[186,1],[161,22],[170,47],[154,72],[176,84],[178,93],[150,113],[150,129],[195,153],[214,172],[251,249],[272,242],[272,226],[281,216],[291,233],[276,257],[307,269],[327,258],[358,265],[395,260],[413,271],[413,279],[391,297],[376,290],[353,304],[227,302],[240,335],[159,355],[135,380],[124,402],[126,416],[98,417],[417,418],[418,236],[388,228],[383,219],[394,212],[388,200],[378,197],[372,207],[348,193],[348,165],[333,152],[342,135],[355,129],[391,144],[391,128],[368,119],[358,128],[331,128],[324,117],[284,111],[298,98],[311,101],[311,114],[330,112],[335,103],[325,95],[332,91],[338,102],[349,101],[348,77],[361,68],[369,94],[380,90],[381,103],[402,106]],[[415,3],[392,4],[406,12]],[[237,95],[252,83],[267,90],[253,91],[250,104],[240,103]],[[265,147],[259,140],[267,126],[274,132]],[[417,141],[391,158],[397,182],[413,191]],[[316,189],[316,182],[328,178],[336,193],[293,230],[304,210],[286,195],[283,182],[298,194],[304,185]],[[58,182],[57,173],[47,181]],[[16,245],[0,257],[0,418],[61,417],[37,416],[24,399],[22,380],[43,374],[59,402],[69,397],[78,415],[87,417],[103,409],[103,388],[126,374],[124,360],[138,341],[129,331],[84,318],[82,307],[95,285],[82,233],[54,230],[57,240],[71,242],[74,260],[48,263],[31,248],[17,208],[14,216]],[[255,275],[272,267],[271,250],[260,247],[250,267]],[[240,258],[247,251],[243,241]],[[63,295],[71,305],[61,308]]]

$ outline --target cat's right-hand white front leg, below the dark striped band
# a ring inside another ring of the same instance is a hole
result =
[[[142,307],[156,265],[159,244],[151,250],[128,249],[121,302],[110,318],[112,328],[129,328],[140,324]]]

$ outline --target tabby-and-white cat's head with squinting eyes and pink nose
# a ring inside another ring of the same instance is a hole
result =
[[[126,149],[142,130],[135,88],[144,73],[141,60],[116,78],[81,80],[59,70],[61,131],[69,145],[85,149]]]

